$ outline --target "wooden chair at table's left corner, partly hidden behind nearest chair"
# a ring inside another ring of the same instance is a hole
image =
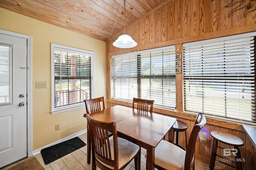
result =
[[[94,99],[88,99],[84,100],[86,113],[84,114],[84,117],[86,114],[94,113],[97,111],[101,111],[105,109],[104,104],[104,97],[98,97]],[[87,124],[87,163],[91,163],[91,143],[90,143],[90,134],[88,132],[88,124]],[[109,132],[109,136],[112,136],[112,133]]]

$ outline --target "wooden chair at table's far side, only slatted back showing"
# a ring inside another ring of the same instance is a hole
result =
[[[137,108],[140,111],[147,111],[147,112],[149,111],[150,113],[152,113],[153,103],[154,103],[154,100],[133,98],[132,109]],[[137,104],[137,107],[135,107],[136,104]]]

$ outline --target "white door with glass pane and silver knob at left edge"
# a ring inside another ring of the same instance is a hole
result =
[[[0,168],[27,157],[27,39],[0,34]]]

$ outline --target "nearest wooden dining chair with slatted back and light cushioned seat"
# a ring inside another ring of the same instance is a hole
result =
[[[92,170],[123,170],[133,159],[140,169],[140,147],[117,136],[116,122],[99,121],[85,115],[92,141]],[[113,136],[109,137],[108,132]]]

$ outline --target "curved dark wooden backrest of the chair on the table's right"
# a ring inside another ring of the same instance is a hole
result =
[[[201,130],[202,127],[204,127],[205,124],[206,124],[206,119],[204,117],[204,114],[198,113],[196,117],[195,125],[192,129],[190,138],[188,140],[188,146],[186,150],[185,164],[184,164],[185,170],[191,170],[194,168],[196,140],[197,140],[199,131]]]

